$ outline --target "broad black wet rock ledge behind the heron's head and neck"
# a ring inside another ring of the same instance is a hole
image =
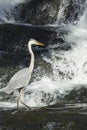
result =
[[[47,52],[47,46],[56,38],[57,33],[53,30],[46,29],[39,26],[0,25],[0,65],[16,63],[24,60],[27,56],[30,58],[26,44],[30,38],[34,38],[45,44],[45,47],[33,46],[35,55],[39,56],[41,53]],[[28,58],[28,61],[29,61]],[[7,62],[7,63],[6,63]]]

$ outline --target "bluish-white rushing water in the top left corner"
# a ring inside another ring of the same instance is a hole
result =
[[[0,22],[1,23],[15,23],[15,18],[13,16],[16,13],[13,8],[19,4],[23,3],[25,0],[0,0]],[[12,13],[12,14],[11,14]]]

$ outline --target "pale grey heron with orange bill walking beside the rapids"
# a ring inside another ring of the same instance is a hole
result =
[[[25,105],[26,107],[30,108],[28,105],[26,105],[22,99],[21,99],[21,95],[23,92],[23,89],[26,85],[28,85],[28,83],[30,82],[31,79],[31,74],[34,68],[34,53],[32,51],[32,45],[40,45],[40,46],[44,46],[43,43],[40,43],[34,39],[30,39],[30,41],[28,42],[28,50],[30,52],[31,55],[31,61],[30,61],[30,65],[27,68],[24,68],[22,70],[19,70],[17,73],[15,73],[12,78],[10,79],[7,87],[5,87],[3,89],[4,92],[6,92],[7,94],[12,93],[14,90],[18,90],[19,91],[19,96],[17,99],[17,110],[18,110],[18,106],[19,106],[19,101]]]

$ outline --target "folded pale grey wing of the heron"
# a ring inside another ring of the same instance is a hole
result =
[[[18,71],[13,77],[10,79],[7,87],[7,91],[14,91],[14,89],[24,87],[30,81],[31,73],[29,73],[29,68],[24,68]]]

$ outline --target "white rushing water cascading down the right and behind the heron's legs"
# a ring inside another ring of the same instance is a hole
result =
[[[43,60],[52,67],[52,77],[43,76],[41,80],[28,85],[22,95],[23,100],[30,107],[51,105],[58,101],[58,97],[66,92],[87,86],[87,11],[79,17],[76,25],[65,25],[69,30],[64,40],[71,45],[68,51],[49,50],[50,58],[43,56]],[[54,46],[53,46],[54,47]],[[17,98],[18,93],[14,93]],[[15,101],[16,101],[15,98]],[[0,102],[0,107],[14,108],[14,102]]]

